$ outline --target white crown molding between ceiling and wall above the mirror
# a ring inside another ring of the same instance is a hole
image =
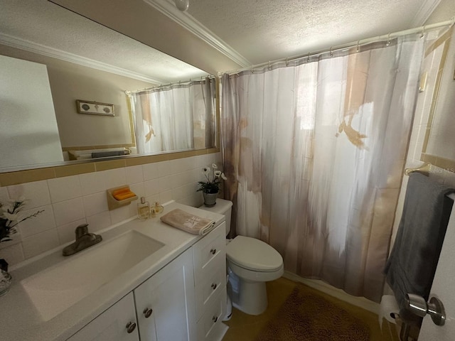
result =
[[[172,0],[144,0],[144,2],[154,7],[154,9],[157,9],[168,18],[171,18],[171,20],[175,21],[183,28],[186,28],[186,30],[205,41],[205,43],[208,43],[208,45],[215,48],[215,50],[218,50],[218,52],[223,53],[223,55],[230,58],[230,60],[241,67],[251,65],[249,60],[240,55],[240,53],[237,53],[236,50],[225,43],[220,37],[216,36],[215,33],[203,26],[196,18],[193,18],[193,16],[186,12],[179,11]]]

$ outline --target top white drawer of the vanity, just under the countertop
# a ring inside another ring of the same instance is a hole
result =
[[[224,234],[225,222],[194,245],[194,279],[196,283],[206,278],[205,276],[210,276],[211,264],[218,264],[213,265],[214,269],[223,267],[223,271],[225,271],[226,239]]]

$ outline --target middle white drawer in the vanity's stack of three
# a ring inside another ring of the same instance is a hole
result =
[[[196,286],[196,320],[203,315],[205,308],[218,298],[221,291],[226,291],[226,269],[219,262],[210,262],[207,276]]]

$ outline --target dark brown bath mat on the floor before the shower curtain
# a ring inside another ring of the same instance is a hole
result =
[[[256,341],[368,341],[363,321],[297,285]]]

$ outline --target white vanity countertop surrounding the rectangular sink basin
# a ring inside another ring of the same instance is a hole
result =
[[[198,215],[199,217],[215,220],[217,225],[225,220],[223,215],[199,210],[196,207],[182,205],[177,202],[171,202],[165,206],[163,213],[154,218],[144,222],[135,219],[124,222],[123,224],[114,225],[112,228],[104,230],[104,232],[96,232],[103,237],[103,241],[97,245],[101,245],[109,239],[134,229],[141,234],[145,234],[163,243],[164,247],[161,247],[161,249],[147,256],[146,259],[124,272],[124,274],[101,286],[95,292],[48,321],[44,321],[41,318],[40,313],[36,310],[23,286],[21,286],[21,281],[33,276],[33,274],[48,269],[50,266],[68,261],[72,257],[77,257],[78,254],[90,251],[90,249],[97,247],[97,245],[68,257],[62,256],[64,246],[61,246],[45,254],[45,256],[37,256],[31,261],[18,264],[18,266],[14,267],[15,269],[10,271],[13,282],[9,292],[0,297],[0,340],[66,340],[77,332],[77,330],[80,330],[93,320],[93,318],[97,317],[97,315],[100,315],[100,313],[109,308],[109,306],[139,286],[140,283],[166,266],[176,256],[202,238],[196,234],[189,234],[171,227],[159,220],[161,215],[176,208],[185,210],[193,215]]]

